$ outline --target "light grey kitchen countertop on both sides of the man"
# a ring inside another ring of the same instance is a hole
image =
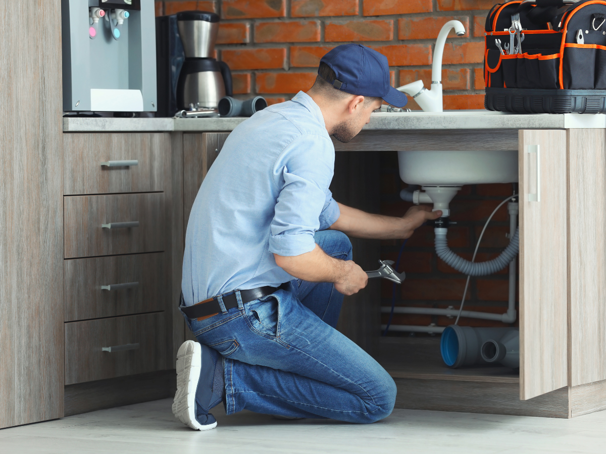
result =
[[[63,119],[63,131],[232,131],[245,118],[113,118],[71,117]],[[364,130],[496,130],[606,128],[606,114],[510,114],[487,110],[442,113],[373,113]]]

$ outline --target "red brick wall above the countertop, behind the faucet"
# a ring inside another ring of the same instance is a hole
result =
[[[290,99],[313,84],[319,59],[344,42],[384,53],[395,87],[431,83],[431,55],[442,25],[458,19],[467,34],[444,49],[444,108],[484,107],[484,18],[495,0],[156,0],[156,15],[206,10],[221,15],[218,57],[241,97]],[[418,109],[411,101],[408,107]]]

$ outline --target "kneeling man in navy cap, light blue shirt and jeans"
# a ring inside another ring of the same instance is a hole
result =
[[[177,357],[173,413],[192,429],[209,410],[373,423],[391,413],[396,386],[336,331],[343,295],[367,285],[347,235],[403,239],[441,212],[402,218],[333,200],[335,148],[370,121],[390,87],[387,59],[358,44],[331,50],[307,94],[266,108],[225,141],[191,209],[181,311],[199,343]]]

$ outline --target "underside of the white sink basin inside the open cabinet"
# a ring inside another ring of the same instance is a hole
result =
[[[398,162],[400,177],[409,185],[518,182],[518,150],[398,151]]]

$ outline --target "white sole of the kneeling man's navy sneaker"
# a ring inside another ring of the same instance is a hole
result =
[[[173,401],[173,415],[185,426],[195,430],[210,430],[216,421],[202,426],[196,419],[196,388],[202,368],[202,349],[194,341],[185,341],[177,353],[177,392]]]

